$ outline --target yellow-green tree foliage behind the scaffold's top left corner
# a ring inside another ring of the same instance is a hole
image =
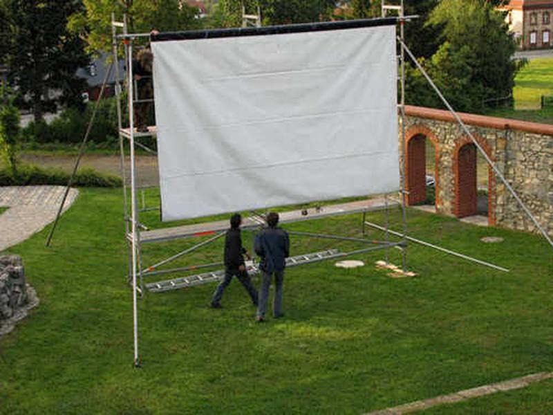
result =
[[[180,0],[82,0],[84,8],[68,21],[73,34],[86,39],[89,53],[111,51],[111,13],[115,19],[127,17],[129,33],[187,30],[200,27],[198,10]]]

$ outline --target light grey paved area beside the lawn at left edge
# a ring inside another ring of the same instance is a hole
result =
[[[0,214],[0,251],[24,241],[52,222],[62,203],[63,186],[0,187],[0,206],[9,207]],[[77,199],[78,190],[71,189],[64,212]]]

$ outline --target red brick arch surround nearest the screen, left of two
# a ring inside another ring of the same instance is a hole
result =
[[[411,141],[414,138],[424,137],[428,138],[434,145],[434,181],[435,181],[435,208],[438,210],[442,206],[442,200],[440,199],[440,140],[435,136],[433,131],[424,124],[415,124],[405,132],[405,190],[411,192],[411,189],[415,183],[413,183],[413,177],[411,176],[411,167],[414,163],[422,163],[421,160],[413,160],[409,151]],[[424,169],[426,173],[426,154],[424,156]],[[426,187],[424,188],[424,194],[426,194]],[[409,205],[418,203],[418,199],[410,197],[408,194],[407,201]]]

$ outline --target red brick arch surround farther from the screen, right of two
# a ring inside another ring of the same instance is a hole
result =
[[[485,153],[487,154],[487,156],[490,158],[491,161],[494,161],[494,154],[492,153],[491,151],[491,145],[489,145],[489,142],[485,139],[485,138],[482,138],[481,136],[478,136],[476,134],[473,134],[474,138],[476,139],[476,141],[478,142],[478,144],[480,145],[480,147],[482,147],[482,149],[485,151]],[[459,154],[460,154],[460,151],[462,150],[463,147],[465,147],[466,145],[474,145],[474,142],[471,140],[471,138],[469,136],[462,136],[461,138],[459,138],[458,140],[456,140],[455,142],[455,149],[453,150],[453,176],[455,177],[455,185],[454,185],[454,188],[455,188],[455,204],[454,204],[454,208],[453,208],[453,213],[455,214],[455,216],[457,217],[460,217],[460,212],[461,212],[461,206],[460,206],[460,203],[461,203],[461,200],[460,200],[460,196],[461,196],[461,192],[460,192],[460,178],[461,178],[461,175],[460,175],[460,172],[459,172]],[[475,146],[476,147],[476,146]],[[476,159],[478,160],[478,149],[476,149]],[[476,169],[476,165],[474,167]],[[495,191],[495,186],[494,186],[494,172],[493,170],[491,169],[491,167],[488,165],[487,166],[488,168],[488,225],[490,226],[493,226],[496,224],[496,215],[495,215],[495,196],[496,196],[496,191]],[[476,174],[476,173],[475,173]],[[478,179],[478,178],[477,178]],[[477,184],[477,188],[478,188],[478,184]],[[477,190],[478,192],[478,190]]]

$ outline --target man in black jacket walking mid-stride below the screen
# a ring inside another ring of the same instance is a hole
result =
[[[242,246],[242,237],[240,225],[242,224],[242,216],[236,213],[230,218],[230,229],[227,230],[225,237],[225,278],[217,287],[211,306],[213,308],[221,308],[221,297],[223,291],[232,281],[232,277],[236,275],[238,281],[242,283],[247,293],[250,294],[254,306],[257,306],[257,291],[252,284],[250,275],[247,274],[243,255],[247,255],[247,251]]]

